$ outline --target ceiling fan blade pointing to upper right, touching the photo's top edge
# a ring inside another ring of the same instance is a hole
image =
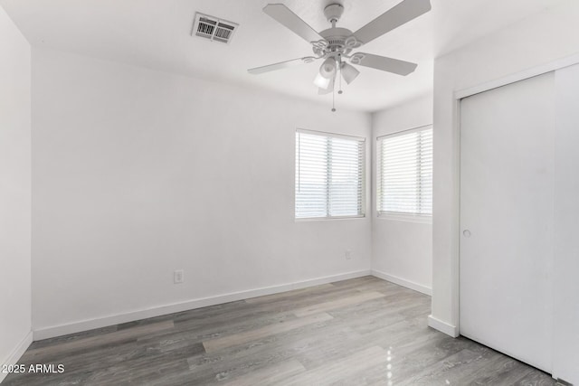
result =
[[[430,0],[403,0],[388,11],[365,24],[354,33],[359,42],[366,43],[388,33],[394,28],[408,23],[421,14],[426,14],[432,8]]]

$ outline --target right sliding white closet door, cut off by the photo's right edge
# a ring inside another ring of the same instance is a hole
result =
[[[553,375],[579,385],[579,64],[556,71]]]

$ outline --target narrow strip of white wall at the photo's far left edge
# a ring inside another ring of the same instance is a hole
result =
[[[32,339],[30,45],[2,7],[0,58],[1,365],[18,359]]]

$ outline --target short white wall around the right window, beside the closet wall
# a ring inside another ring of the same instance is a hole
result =
[[[376,112],[372,119],[373,165],[377,137],[426,125],[432,125],[432,94]],[[372,179],[375,187],[375,172]],[[432,224],[378,217],[375,197],[372,202],[372,269],[382,278],[430,293]]]

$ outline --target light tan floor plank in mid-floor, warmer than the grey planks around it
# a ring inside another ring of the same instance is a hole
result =
[[[204,341],[203,345],[207,353],[213,353],[217,350],[223,350],[224,348],[227,347],[231,347],[238,344],[246,344],[248,342],[263,338],[265,336],[284,333],[286,331],[299,328],[303,325],[311,325],[314,323],[324,322],[332,318],[333,317],[331,315],[325,313],[318,313],[317,315],[302,317],[299,319],[291,320],[289,322],[282,322],[276,325],[266,325],[255,330],[250,330],[229,336],[223,336],[221,338],[210,339],[208,341]]]

